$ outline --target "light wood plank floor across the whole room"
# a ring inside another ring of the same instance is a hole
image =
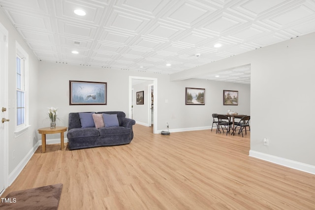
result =
[[[124,146],[39,147],[1,197],[63,183],[59,210],[315,209],[315,175],[249,157],[249,133],[133,129]]]

